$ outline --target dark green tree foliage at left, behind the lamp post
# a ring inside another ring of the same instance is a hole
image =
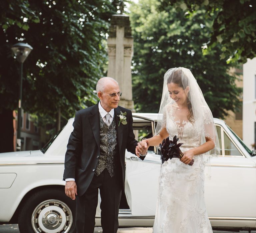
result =
[[[107,61],[105,34],[119,1],[16,0],[0,5],[0,113],[18,107],[19,64],[11,46],[28,43],[24,62],[24,111],[53,122],[96,102],[93,93]],[[10,129],[10,127],[9,127]],[[7,129],[8,130],[8,129]]]

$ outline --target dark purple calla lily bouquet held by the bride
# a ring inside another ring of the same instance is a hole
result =
[[[159,147],[161,149],[162,163],[164,163],[164,161],[167,161],[168,159],[183,157],[184,154],[180,150],[180,146],[183,145],[183,143],[177,144],[178,140],[179,138],[175,135],[173,137],[173,140],[170,140],[170,138],[167,137],[162,141],[162,144],[159,144]],[[194,159],[192,159],[188,165],[192,166],[193,163]]]

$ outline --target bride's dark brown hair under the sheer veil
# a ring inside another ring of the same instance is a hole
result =
[[[167,84],[168,83],[175,83],[179,87],[181,87],[183,90],[185,90],[184,87],[188,87],[188,78],[186,77],[186,75],[184,73],[183,73],[183,77],[182,77],[182,70],[176,70],[167,79]],[[193,116],[193,111],[192,111],[192,105],[191,105],[189,98],[190,98],[190,92],[188,92],[188,94],[187,94],[187,106],[188,106],[188,110],[189,110],[188,120],[192,123],[192,122],[194,122],[194,116]]]

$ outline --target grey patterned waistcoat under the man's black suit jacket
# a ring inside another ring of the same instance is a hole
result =
[[[114,176],[116,152],[117,132],[115,119],[113,119],[111,125],[108,127],[100,115],[100,158],[95,173],[97,176],[105,168],[107,168],[111,177]]]

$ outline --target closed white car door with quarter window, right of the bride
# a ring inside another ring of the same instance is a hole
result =
[[[216,125],[221,155],[205,169],[205,201],[210,219],[250,219],[256,216],[255,163],[227,127]],[[249,221],[249,225],[253,225]],[[248,226],[249,226],[248,225]]]

